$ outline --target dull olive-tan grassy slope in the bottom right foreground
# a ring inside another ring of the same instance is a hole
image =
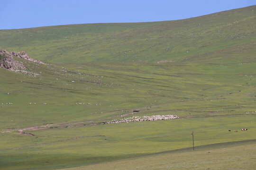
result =
[[[63,170],[253,170],[254,142],[224,143]],[[184,161],[186,160],[186,161]]]

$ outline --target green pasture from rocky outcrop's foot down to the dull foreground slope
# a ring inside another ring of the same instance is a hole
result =
[[[207,72],[209,65],[100,66],[40,65],[40,76],[1,72],[1,80],[8,80],[1,82],[1,132],[11,131],[0,136],[1,169],[60,169],[191,148],[192,131],[196,146],[255,139],[256,80],[241,76],[250,73],[247,65],[226,73],[213,72],[217,66]],[[158,114],[180,119],[102,124]],[[25,130],[35,136],[18,134],[19,128],[47,123],[47,129]],[[77,124],[60,125],[67,123]]]

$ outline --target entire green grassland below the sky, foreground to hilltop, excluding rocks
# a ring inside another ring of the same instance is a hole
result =
[[[251,6],[178,21],[0,30],[0,48],[49,63],[17,59],[39,76],[0,69],[0,169],[145,169],[138,165],[146,160],[158,169],[152,159],[163,160],[162,169],[231,169],[239,167],[236,158],[251,169],[255,11]],[[102,124],[158,114],[180,119]],[[20,135],[22,129],[35,136]],[[196,161],[208,152],[216,154]],[[231,161],[222,161],[225,156]],[[183,164],[175,164],[183,157]]]

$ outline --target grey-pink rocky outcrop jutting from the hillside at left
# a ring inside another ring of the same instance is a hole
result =
[[[26,67],[23,65],[23,63],[21,61],[16,61],[15,59],[13,59],[13,57],[18,57],[21,59],[27,59],[29,61],[37,62],[40,64],[45,64],[42,61],[30,58],[29,56],[27,56],[27,53],[24,51],[8,52],[6,50],[0,50],[0,68],[5,68],[15,72],[28,73],[27,71],[25,71]]]

